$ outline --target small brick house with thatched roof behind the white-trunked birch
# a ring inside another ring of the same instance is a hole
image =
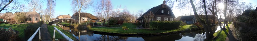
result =
[[[94,20],[97,21],[99,20],[96,16],[90,14],[90,13],[80,13],[80,20],[81,22],[85,22],[85,21],[90,21],[90,20]],[[79,20],[79,13],[76,12],[74,13],[71,18],[75,19],[75,20]]]

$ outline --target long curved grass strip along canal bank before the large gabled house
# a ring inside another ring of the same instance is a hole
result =
[[[168,33],[176,31],[185,31],[189,29],[192,25],[185,25],[182,28],[172,29],[172,30],[151,30],[151,29],[129,29],[122,30],[122,28],[107,28],[107,27],[92,27],[90,30],[107,32],[107,33],[121,33],[121,34],[158,34],[158,33]]]

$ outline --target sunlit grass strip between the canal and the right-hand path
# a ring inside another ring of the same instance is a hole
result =
[[[231,24],[228,24],[228,26],[230,26],[230,25]],[[219,30],[216,33],[214,33],[213,36],[216,38],[214,38],[212,41],[225,41],[226,37],[227,37],[226,34],[228,34],[229,27],[226,26],[226,28],[227,28],[226,30],[222,30],[222,31]],[[226,31],[226,32],[224,32],[224,31]]]

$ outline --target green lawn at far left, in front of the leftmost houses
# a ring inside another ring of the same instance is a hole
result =
[[[13,26],[13,25],[16,25],[16,26]],[[13,24],[13,25],[9,25],[9,24],[0,24],[1,27],[3,28],[12,28],[16,31],[19,32],[19,37],[20,38],[23,38],[25,35],[24,35],[24,30],[26,29],[27,26],[30,26],[32,24]],[[19,27],[17,27],[19,26]]]

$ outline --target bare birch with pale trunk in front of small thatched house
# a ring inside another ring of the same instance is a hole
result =
[[[89,7],[89,5],[91,5],[91,0],[72,0],[71,6],[72,10],[78,10],[79,12],[79,24],[80,24],[80,12],[81,11],[85,11],[87,10],[87,8]]]

